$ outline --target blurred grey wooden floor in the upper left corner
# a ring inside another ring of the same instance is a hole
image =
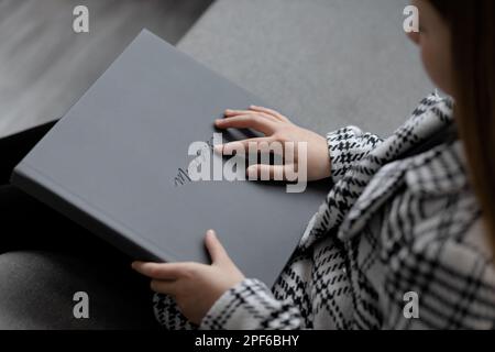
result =
[[[1,0],[0,136],[62,117],[145,26],[170,43],[212,0]],[[73,9],[89,9],[89,34]]]

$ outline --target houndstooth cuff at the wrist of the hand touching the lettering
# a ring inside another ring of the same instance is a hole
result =
[[[363,160],[377,147],[383,139],[372,133],[364,133],[356,127],[346,127],[327,134],[330,153],[332,180],[339,182],[348,169]]]

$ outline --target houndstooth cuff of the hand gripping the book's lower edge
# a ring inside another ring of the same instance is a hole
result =
[[[299,329],[302,319],[297,307],[277,300],[257,279],[244,279],[217,300],[202,319],[205,330]]]

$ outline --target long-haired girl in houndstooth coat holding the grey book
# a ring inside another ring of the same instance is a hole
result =
[[[492,0],[413,4],[420,10],[421,29],[411,40],[435,84],[453,100],[426,98],[386,140],[353,127],[322,138],[270,109],[228,110],[217,121],[220,129],[252,128],[268,141],[308,142],[309,178],[331,177],[334,186],[273,289],[245,278],[213,231],[206,237],[211,265],[133,263],[152,278],[156,317],[164,326],[494,327],[495,7]],[[15,136],[16,143],[23,135]],[[1,143],[6,150],[8,141]],[[10,188],[2,191],[18,202],[33,202]],[[40,205],[33,209],[37,213]],[[61,223],[54,233],[69,227],[75,226]],[[6,249],[22,243],[14,242]],[[107,262],[125,262],[101,243],[88,248],[100,248]],[[409,311],[408,302],[418,304],[419,311]]]

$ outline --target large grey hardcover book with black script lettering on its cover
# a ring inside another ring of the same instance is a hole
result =
[[[136,260],[208,263],[205,232],[215,229],[248,277],[272,285],[329,182],[290,194],[187,174],[189,145],[220,132],[213,121],[226,109],[251,105],[266,106],[143,31],[15,167],[12,184]]]

